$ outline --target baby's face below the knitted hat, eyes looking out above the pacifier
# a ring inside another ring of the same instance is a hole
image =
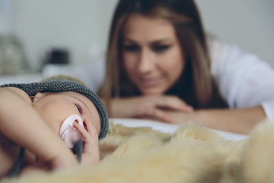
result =
[[[86,125],[94,125],[99,136],[101,121],[95,105],[79,93],[37,93],[32,106],[51,129],[59,134],[62,122],[71,114],[78,114]]]

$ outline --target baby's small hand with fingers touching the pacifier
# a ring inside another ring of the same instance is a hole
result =
[[[99,162],[100,158],[97,130],[95,126],[90,123],[90,121],[85,119],[83,123],[86,125],[86,129],[82,127],[82,125],[79,125],[79,123],[73,123],[73,127],[75,127],[84,138],[81,164],[96,164]]]

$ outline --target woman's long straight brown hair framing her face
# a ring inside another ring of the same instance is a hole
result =
[[[185,54],[185,68],[166,94],[177,95],[194,108],[227,107],[210,73],[210,56],[197,6],[192,0],[120,0],[116,6],[106,57],[106,75],[99,96],[107,106],[112,97],[141,95],[121,62],[123,29],[131,14],[169,21]]]

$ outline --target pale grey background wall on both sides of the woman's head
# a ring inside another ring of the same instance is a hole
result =
[[[73,63],[103,53],[117,0],[13,0],[14,31],[34,68],[52,47],[71,51]],[[206,29],[274,66],[273,0],[196,0]],[[91,51],[89,51],[91,50]],[[91,56],[90,56],[91,55]]]

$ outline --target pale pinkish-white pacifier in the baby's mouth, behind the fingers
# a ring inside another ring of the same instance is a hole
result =
[[[82,135],[78,132],[78,130],[73,127],[73,122],[78,122],[79,125],[83,125],[82,118],[79,117],[78,114],[71,114],[71,116],[67,117],[60,127],[60,136],[69,146],[69,148],[73,148],[73,145],[80,139],[82,139]]]

